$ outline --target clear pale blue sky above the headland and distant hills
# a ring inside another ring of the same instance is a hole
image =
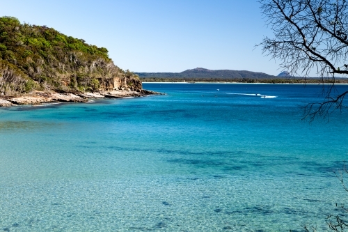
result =
[[[134,72],[282,71],[254,47],[271,36],[257,1],[0,0],[0,6],[1,16],[106,47],[116,65]]]

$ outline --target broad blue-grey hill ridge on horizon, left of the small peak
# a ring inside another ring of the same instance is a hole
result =
[[[275,78],[275,76],[268,75],[263,72],[237,71],[237,70],[209,70],[206,68],[193,68],[185,70],[184,72],[134,72],[141,78],[155,77],[155,78],[253,78],[253,79],[267,79]]]

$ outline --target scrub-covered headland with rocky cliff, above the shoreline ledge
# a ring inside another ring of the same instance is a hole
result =
[[[139,77],[114,65],[106,48],[47,26],[0,17],[1,95],[141,89]]]

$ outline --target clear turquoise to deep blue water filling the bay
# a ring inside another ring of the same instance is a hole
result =
[[[347,109],[301,121],[322,87],[143,86],[0,109],[0,231],[326,231],[347,203]]]

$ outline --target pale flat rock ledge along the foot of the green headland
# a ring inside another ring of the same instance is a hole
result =
[[[148,95],[164,95],[155,91],[141,89],[139,91],[104,91],[104,92],[84,92],[84,93],[58,93],[56,91],[33,91],[23,95],[0,96],[0,107],[14,107],[19,105],[45,105],[47,103],[67,103],[67,102],[90,102],[93,99],[101,98],[140,98]]]

